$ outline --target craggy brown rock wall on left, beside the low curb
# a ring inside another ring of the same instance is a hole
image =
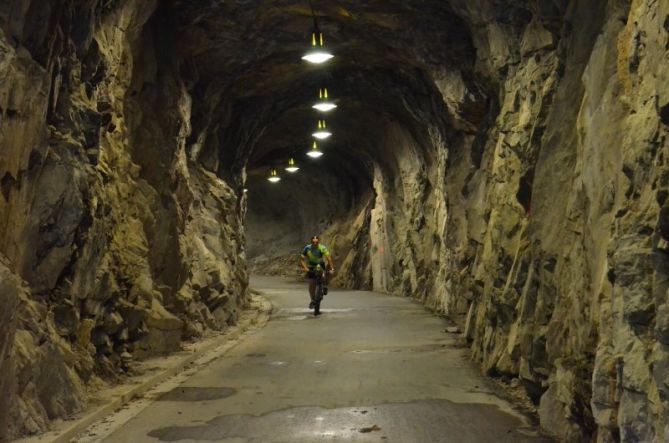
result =
[[[0,5],[0,438],[247,303],[243,197],[192,152],[169,20],[155,1]]]

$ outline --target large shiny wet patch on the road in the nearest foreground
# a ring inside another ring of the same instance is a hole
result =
[[[366,411],[362,414],[361,411]],[[372,424],[370,426],[370,424]],[[378,442],[380,438],[403,443],[466,441],[471,443],[550,442],[517,417],[487,404],[418,400],[375,407],[326,409],[297,407],[255,416],[219,415],[206,424],[169,426],[148,433],[160,441],[220,441],[247,443],[337,440]]]

